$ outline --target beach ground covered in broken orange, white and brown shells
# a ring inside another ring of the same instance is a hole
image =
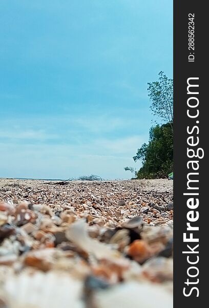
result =
[[[173,306],[173,187],[0,179],[0,306]]]

